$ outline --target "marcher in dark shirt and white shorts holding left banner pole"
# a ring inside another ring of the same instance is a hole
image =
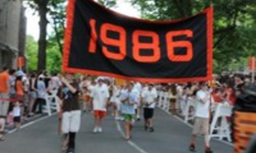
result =
[[[58,91],[62,100],[62,126],[63,141],[61,149],[67,153],[75,152],[76,133],[80,129],[81,110],[79,104],[79,84],[73,74],[61,78],[63,86]]]

